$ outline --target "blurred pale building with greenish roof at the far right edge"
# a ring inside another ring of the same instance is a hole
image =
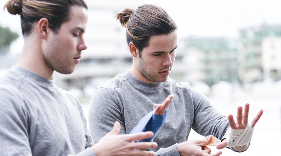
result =
[[[245,83],[280,80],[281,26],[263,24],[239,32],[239,77]]]

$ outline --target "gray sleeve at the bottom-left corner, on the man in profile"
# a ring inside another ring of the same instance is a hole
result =
[[[17,97],[0,100],[0,155],[32,155],[28,112]]]

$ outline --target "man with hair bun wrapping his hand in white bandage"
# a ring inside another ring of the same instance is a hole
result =
[[[110,131],[113,121],[121,123],[121,134],[130,133],[154,103],[173,94],[166,121],[154,139],[158,144],[155,155],[218,156],[222,152],[211,154],[207,147],[213,139],[209,135],[222,140],[217,149],[245,151],[263,110],[248,123],[249,104],[245,105],[244,113],[239,106],[235,123],[232,115],[219,113],[205,95],[187,82],[177,83],[169,77],[178,46],[177,25],[161,7],[145,4],[136,10],[127,8],[116,18],[126,27],[133,64],[94,91],[89,110],[94,142]],[[191,128],[209,137],[188,140]]]

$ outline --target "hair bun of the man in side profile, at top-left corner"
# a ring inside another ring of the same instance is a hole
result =
[[[7,8],[7,11],[12,15],[21,15],[22,14],[22,0],[9,0],[6,2],[4,9]]]

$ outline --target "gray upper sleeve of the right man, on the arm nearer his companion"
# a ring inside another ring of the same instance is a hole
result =
[[[119,121],[121,124],[120,134],[126,134],[121,109],[109,90],[99,88],[94,91],[89,108],[89,129],[94,143],[111,131],[115,121]]]

